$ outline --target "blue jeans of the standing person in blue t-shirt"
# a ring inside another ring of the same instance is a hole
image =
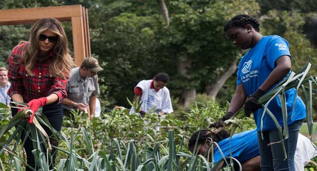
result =
[[[284,152],[281,148],[281,143],[269,143],[279,141],[277,129],[263,131],[263,140],[261,132],[258,132],[258,149],[260,151],[261,171],[295,171],[294,155],[297,145],[298,132],[303,120],[297,120],[295,123],[288,126],[289,138],[284,140],[287,159],[284,160]]]

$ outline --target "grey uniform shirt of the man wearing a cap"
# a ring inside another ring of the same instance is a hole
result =
[[[88,106],[90,96],[95,96],[100,93],[98,85],[98,75],[82,79],[79,74],[79,67],[73,68],[70,72],[70,79],[66,85],[67,98],[76,103],[83,103]],[[71,107],[63,104],[67,110],[77,110],[76,107]]]

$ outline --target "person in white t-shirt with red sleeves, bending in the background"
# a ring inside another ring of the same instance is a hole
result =
[[[153,80],[140,81],[134,88],[133,102],[139,96],[139,103],[142,102],[142,105],[139,111],[134,111],[131,107],[130,114],[139,112],[141,116],[144,116],[151,108],[153,108],[152,112],[157,112],[159,116],[172,113],[170,91],[166,87],[168,81],[169,76],[166,73],[158,73]]]

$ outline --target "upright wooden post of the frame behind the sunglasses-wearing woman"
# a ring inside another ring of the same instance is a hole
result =
[[[85,43],[82,17],[72,17],[75,64],[80,66],[85,58]]]

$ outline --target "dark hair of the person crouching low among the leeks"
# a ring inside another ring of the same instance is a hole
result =
[[[200,132],[200,133],[199,133]],[[199,137],[198,137],[199,133]],[[228,130],[220,130],[220,131],[211,131],[210,129],[202,129],[195,132],[189,139],[188,148],[195,146],[196,140],[198,139],[198,144],[204,144],[208,138],[211,138],[213,142],[218,143],[223,139],[226,139],[230,136],[230,132]]]

